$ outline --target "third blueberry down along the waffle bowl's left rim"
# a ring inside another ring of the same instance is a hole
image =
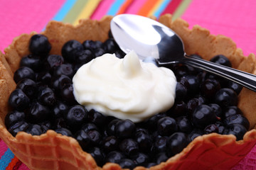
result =
[[[29,67],[20,67],[14,72],[14,81],[18,83],[22,79],[36,79],[36,74],[33,72],[33,69]]]

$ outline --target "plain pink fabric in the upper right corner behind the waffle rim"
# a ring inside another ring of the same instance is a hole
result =
[[[232,38],[245,55],[256,54],[255,0],[193,0],[182,18],[214,35]]]

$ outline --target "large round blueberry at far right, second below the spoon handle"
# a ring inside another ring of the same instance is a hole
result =
[[[223,88],[215,94],[215,103],[226,108],[228,106],[238,105],[238,95],[232,89]]]

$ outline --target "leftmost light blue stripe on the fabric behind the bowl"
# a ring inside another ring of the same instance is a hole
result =
[[[63,4],[63,6],[60,8],[58,13],[53,17],[53,20],[55,21],[63,21],[63,18],[67,15],[68,11],[74,6],[75,2],[77,0],[67,0]]]

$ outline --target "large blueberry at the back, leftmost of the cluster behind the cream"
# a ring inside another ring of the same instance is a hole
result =
[[[67,62],[75,62],[75,55],[77,52],[84,50],[84,47],[78,40],[69,40],[65,42],[61,49],[61,54]]]

